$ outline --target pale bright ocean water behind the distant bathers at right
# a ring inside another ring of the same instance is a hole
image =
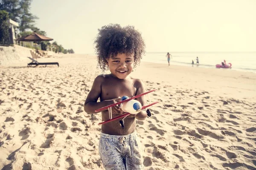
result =
[[[223,60],[232,64],[232,70],[256,73],[256,52],[170,52],[172,58],[170,65],[185,65],[196,67],[196,57],[199,59],[198,67],[215,68]],[[167,52],[148,52],[143,56],[142,61],[168,64]],[[224,68],[221,68],[224,69]]]

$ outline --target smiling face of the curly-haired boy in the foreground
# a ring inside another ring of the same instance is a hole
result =
[[[107,59],[111,74],[119,79],[125,79],[133,69],[134,57],[127,54],[117,54]]]

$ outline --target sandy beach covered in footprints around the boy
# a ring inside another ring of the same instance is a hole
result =
[[[96,57],[0,66],[0,169],[102,170],[101,114],[84,112]],[[108,72],[107,72],[108,73]],[[152,116],[138,121],[145,170],[256,170],[256,74],[141,62]]]

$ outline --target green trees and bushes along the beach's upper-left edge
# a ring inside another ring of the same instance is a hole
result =
[[[44,36],[47,35],[45,31],[35,26],[35,21],[39,18],[30,12],[31,3],[32,0],[0,0],[0,44],[9,43],[9,18],[19,23],[18,29],[20,30],[20,37],[32,34],[33,32]],[[74,53],[73,49],[64,49],[62,45],[58,45],[57,42],[55,42],[55,44],[50,44],[49,42],[37,43],[41,44],[42,50],[47,50],[48,46],[49,48],[54,48],[56,53]]]

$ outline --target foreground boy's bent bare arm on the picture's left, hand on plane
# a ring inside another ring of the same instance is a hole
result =
[[[84,111],[86,113],[98,113],[98,112],[95,112],[95,110],[99,108],[103,108],[107,105],[111,105],[120,100],[120,99],[112,99],[112,100],[104,100],[102,102],[97,102],[99,99],[99,96],[102,93],[101,85],[104,79],[105,79],[104,75],[99,75],[95,78],[92,89],[90,90],[84,102]]]

